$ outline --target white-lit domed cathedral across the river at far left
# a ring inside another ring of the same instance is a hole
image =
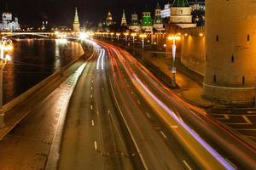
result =
[[[12,13],[4,11],[2,14],[2,22],[0,22],[0,31],[17,31],[20,30],[20,24],[17,17],[13,20]]]

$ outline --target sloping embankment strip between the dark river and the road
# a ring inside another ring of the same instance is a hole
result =
[[[67,77],[70,77],[86,59],[89,59],[92,53],[93,48],[86,47],[84,44],[84,54],[82,56],[73,59],[71,63],[62,67],[61,70],[55,71],[55,73],[48,78],[4,105],[2,113],[5,113],[5,126],[0,128],[0,140],[32,111],[34,105],[42,102],[55,88],[58,88]]]

